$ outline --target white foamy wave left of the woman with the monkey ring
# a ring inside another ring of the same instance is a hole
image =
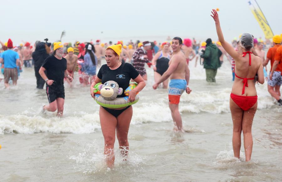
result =
[[[17,115],[0,115],[0,134],[3,133],[93,133],[100,129],[98,113],[81,113],[58,118],[54,113],[30,116],[25,112]]]

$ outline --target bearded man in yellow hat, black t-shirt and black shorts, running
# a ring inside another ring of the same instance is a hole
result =
[[[61,42],[54,43],[54,51],[52,56],[45,59],[39,74],[46,82],[46,94],[49,105],[44,105],[43,110],[55,112],[57,116],[63,116],[65,103],[64,77],[72,82],[72,77],[66,69],[67,61],[63,58],[63,44]],[[46,70],[47,76],[44,73]]]

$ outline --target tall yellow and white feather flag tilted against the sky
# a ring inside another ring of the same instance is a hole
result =
[[[265,38],[272,39],[272,37],[274,36],[273,32],[268,24],[268,21],[264,17],[264,13],[259,8],[258,3],[256,2],[256,0],[247,0],[247,1],[254,17],[259,22],[260,28],[264,31]]]

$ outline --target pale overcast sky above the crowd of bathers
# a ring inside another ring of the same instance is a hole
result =
[[[282,33],[282,0],[257,0],[272,31]],[[219,18],[226,40],[243,32],[264,38],[247,0],[13,0],[1,1],[0,40],[11,38],[35,42],[75,40],[165,41],[167,36],[217,40],[212,8]],[[277,9],[277,11],[275,11]]]

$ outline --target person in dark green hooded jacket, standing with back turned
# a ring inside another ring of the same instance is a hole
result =
[[[207,39],[206,50],[204,54],[201,55],[201,57],[204,58],[207,82],[216,82],[215,76],[217,75],[217,68],[221,66],[219,61],[221,55],[222,52],[212,43],[212,39]]]

